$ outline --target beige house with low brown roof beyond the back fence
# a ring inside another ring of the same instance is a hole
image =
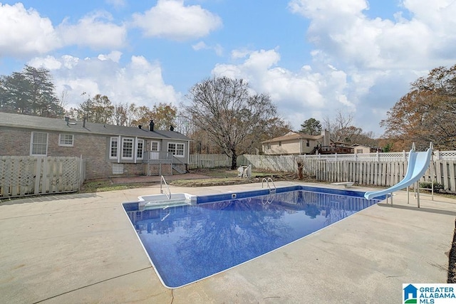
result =
[[[329,132],[321,131],[321,135],[306,135],[300,132],[288,132],[281,137],[261,142],[264,154],[315,154],[318,147],[331,145]]]

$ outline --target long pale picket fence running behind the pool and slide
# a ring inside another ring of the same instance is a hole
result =
[[[214,154],[194,154],[190,159],[201,157],[205,167],[211,167]],[[225,157],[225,156],[224,156]],[[325,155],[254,155],[244,154],[237,158],[237,164],[249,165],[258,169],[276,172],[297,173],[300,161],[304,164],[304,174],[322,182],[355,182],[364,185],[390,187],[400,182],[407,171],[408,152],[370,153],[370,154],[325,154]],[[198,166],[194,164],[194,166]],[[231,160],[225,165],[219,162],[214,167],[230,167]],[[444,189],[456,192],[456,151],[435,151],[432,164],[425,172],[421,182],[437,182]]]

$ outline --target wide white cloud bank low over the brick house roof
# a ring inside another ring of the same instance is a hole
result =
[[[112,54],[110,54],[112,55]],[[51,70],[57,95],[68,94],[68,106],[76,107],[83,102],[83,92],[93,96],[107,95],[111,103],[145,105],[155,103],[178,105],[182,96],[162,78],[159,63],[150,63],[142,56],[132,56],[126,65],[120,65],[108,56],[95,58],[34,58],[28,64]],[[115,58],[120,56],[115,54]],[[59,63],[59,64],[57,64]]]

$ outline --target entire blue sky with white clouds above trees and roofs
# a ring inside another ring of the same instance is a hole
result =
[[[180,108],[242,78],[295,131],[340,112],[379,137],[410,83],[456,64],[454,16],[456,0],[0,0],[0,75],[47,68],[68,108]]]

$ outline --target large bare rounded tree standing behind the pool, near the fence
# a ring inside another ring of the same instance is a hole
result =
[[[232,159],[249,151],[267,130],[267,121],[276,116],[269,95],[252,94],[242,79],[210,78],[197,83],[184,106],[192,122]]]

